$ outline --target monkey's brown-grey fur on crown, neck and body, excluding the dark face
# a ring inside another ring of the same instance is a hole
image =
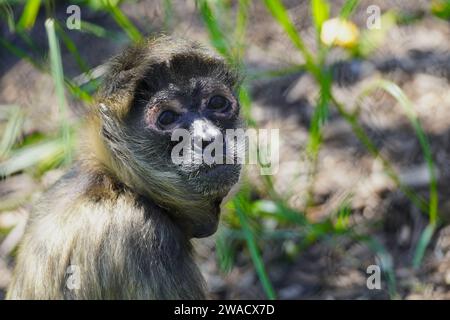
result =
[[[189,239],[204,225],[215,230],[229,189],[213,197],[186,188],[162,160],[139,156],[144,147],[149,157],[157,150],[141,145],[145,139],[126,122],[140,90],[151,94],[168,79],[197,75],[236,86],[222,60],[188,41],[148,40],[112,60],[80,160],[29,218],[7,298],[205,297]],[[69,266],[80,270],[79,289],[67,286]]]

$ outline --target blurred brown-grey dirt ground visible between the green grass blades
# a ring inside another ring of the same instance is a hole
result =
[[[333,12],[340,3],[333,1]],[[193,2],[192,2],[193,3]],[[190,1],[179,1],[175,8],[174,33],[207,43],[207,34],[195,7]],[[314,47],[314,29],[309,17],[308,1],[286,1],[291,16]],[[401,9],[420,14],[428,1],[362,1],[355,22],[365,26],[365,8],[377,4],[382,10]],[[157,32],[162,24],[161,8],[142,1],[125,5],[126,14],[145,32]],[[64,10],[61,10],[64,16]],[[40,17],[43,18],[43,17]],[[106,16],[89,12],[86,19],[109,28],[117,28]],[[299,53],[266,9],[257,2],[252,6],[245,56],[249,73],[283,68],[302,62]],[[42,20],[42,19],[41,19]],[[42,21],[41,21],[42,23]],[[6,28],[0,29],[8,37]],[[117,42],[70,33],[89,65],[103,63],[119,51],[126,39]],[[11,37],[11,36],[10,36]],[[35,39],[45,48],[43,30],[36,30]],[[15,41],[14,38],[11,38]],[[422,267],[411,267],[413,249],[426,217],[420,213],[385,176],[378,161],[366,152],[353,135],[350,126],[335,112],[326,124],[323,149],[319,155],[314,195],[318,206],[306,214],[320,221],[345,197],[352,199],[351,223],[365,233],[375,235],[389,251],[394,266],[398,298],[450,299],[450,24],[425,15],[419,22],[394,27],[386,41],[368,60],[341,62],[343,52],[335,50],[328,61],[335,67],[333,89],[346,106],[354,105],[361,88],[373,79],[386,78],[397,83],[413,102],[415,111],[431,142],[438,167],[439,208],[442,225]],[[69,57],[65,52],[64,56]],[[64,58],[64,57],[63,57]],[[66,60],[65,60],[66,61]],[[75,65],[65,62],[64,70],[76,76]],[[281,138],[280,169],[274,176],[279,193],[293,190],[289,200],[293,208],[302,208],[305,199],[306,174],[293,179],[294,172],[303,172],[302,154],[308,138],[308,127],[319,94],[310,76],[295,73],[260,79],[252,83],[252,116],[260,128],[279,128]],[[0,104],[17,104],[27,111],[25,132],[47,132],[55,127],[57,99],[48,75],[33,69],[25,61],[0,51]],[[79,114],[79,103],[72,103],[73,116]],[[389,160],[400,172],[402,181],[427,196],[426,164],[419,142],[401,107],[388,95],[377,92],[365,99],[361,121]],[[250,172],[252,168],[248,169]],[[0,182],[0,298],[9,282],[13,259],[9,258],[30,206],[62,173],[54,170],[41,179],[19,174]],[[258,178],[255,178],[258,185]],[[18,209],[15,203],[25,203]],[[9,210],[8,208],[14,208]],[[214,239],[196,240],[201,269],[208,283],[211,298],[260,299],[264,292],[248,254],[239,252],[230,273],[219,271],[214,254]],[[366,268],[381,263],[367,246],[348,239],[333,238],[307,248],[295,258],[283,254],[283,244],[269,243],[263,256],[278,297],[281,299],[386,299],[387,283],[381,290],[366,286]]]

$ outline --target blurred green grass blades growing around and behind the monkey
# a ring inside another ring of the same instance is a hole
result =
[[[171,0],[161,1],[164,14],[163,30],[170,31],[174,24],[174,3]],[[50,2],[28,0],[23,3],[22,13],[18,21],[16,21],[17,19],[14,17],[11,7],[16,4],[2,6],[0,14],[7,22],[9,30],[23,40],[27,49],[15,45],[4,37],[0,37],[0,46],[19,59],[28,61],[41,72],[52,75],[58,97],[60,129],[59,132],[48,134],[47,136],[22,137],[22,126],[25,116],[20,111],[20,108],[11,108],[9,120],[0,141],[0,176],[9,176],[17,172],[30,170],[42,174],[60,165],[67,166],[72,158],[71,153],[74,146],[73,131],[76,124],[69,122],[69,108],[65,92],[67,90],[71,94],[72,99],[89,103],[92,101],[91,94],[98,87],[92,66],[89,66],[83,59],[78,51],[77,44],[71,39],[70,33],[65,32],[62,22],[52,16],[53,10]],[[121,10],[121,1],[80,0],[77,3],[79,5],[87,5],[93,10],[103,11],[121,28],[121,33],[119,34],[118,32],[107,30],[101,25],[83,20],[79,32],[86,32],[96,37],[110,39],[111,41],[117,41],[121,35],[126,35],[132,42],[138,42],[143,38],[139,29]],[[264,0],[263,4],[267,9],[268,17],[271,16],[279,24],[286,38],[290,39],[295,48],[298,49],[299,55],[303,57],[304,64],[293,65],[283,70],[255,74],[251,74],[244,63],[248,41],[249,10],[252,1],[237,0],[235,3],[237,4],[236,6],[231,5],[231,2],[228,1],[196,0],[196,7],[208,32],[212,46],[231,66],[249,74],[243,80],[237,92],[243,115],[249,126],[256,126],[256,121],[252,118],[252,96],[249,91],[254,80],[305,71],[314,77],[320,88],[320,95],[315,101],[309,128],[309,138],[305,148],[309,159],[309,181],[307,186],[309,196],[308,201],[306,201],[306,207],[301,211],[290,208],[287,203],[288,194],[280,195],[277,193],[271,176],[262,177],[265,190],[260,195],[260,198],[255,199],[249,192],[251,184],[244,178],[244,187],[227,207],[229,214],[224,217],[227,224],[219,231],[217,236],[216,253],[219,266],[224,271],[231,270],[235,261],[236,248],[238,244],[244,244],[248,249],[248,254],[267,298],[274,299],[277,297],[277,293],[268,275],[268,265],[266,265],[263,254],[265,241],[274,239],[281,241],[285,244],[286,254],[296,256],[302,250],[318,241],[346,237],[367,245],[374,252],[380,261],[390,296],[392,298],[397,297],[393,259],[388,250],[374,237],[359,234],[355,230],[351,224],[350,198],[345,199],[337,212],[324,221],[309,221],[304,212],[306,212],[308,207],[315,205],[313,190],[317,161],[322,145],[322,132],[327,124],[330,108],[336,108],[343,119],[350,124],[355,136],[366,147],[368,152],[374,158],[381,160],[386,174],[396,183],[397,187],[404,192],[415,206],[428,214],[429,225],[422,232],[412,261],[414,267],[420,266],[439,222],[438,192],[435,164],[429,142],[417,116],[414,114],[411,102],[396,84],[385,80],[378,81],[373,86],[363,90],[360,96],[362,98],[369,95],[375,88],[381,88],[392,95],[403,108],[419,140],[431,177],[428,200],[423,199],[414,190],[402,184],[393,165],[381,155],[380,150],[359,124],[358,112],[348,112],[346,106],[341,104],[334,96],[332,73],[326,63],[327,56],[332,48],[322,43],[320,37],[323,24],[332,18],[331,2],[326,0],[311,1],[310,9],[316,32],[317,48],[317,52],[313,52],[312,49],[307,47],[300,32],[297,31],[283,2],[280,0]],[[38,46],[29,33],[36,24],[40,7],[43,4],[46,7],[46,15],[49,17],[45,23],[49,44],[46,54],[49,55],[49,59],[40,55]],[[358,4],[359,1],[357,0],[345,1],[339,11],[340,19],[350,21],[351,15],[357,9]],[[443,1],[433,1],[430,7],[433,14],[444,19],[447,17],[447,9]],[[382,16],[382,29],[364,30],[359,36],[356,45],[346,49],[349,56],[364,58],[370,55],[382,44],[386,33],[398,20],[399,18],[395,13],[385,13]],[[89,79],[84,86],[77,85],[74,79],[64,76],[59,41],[62,41],[64,47],[79,67],[80,72]],[[270,226],[267,223],[268,221],[273,222],[273,224]]]

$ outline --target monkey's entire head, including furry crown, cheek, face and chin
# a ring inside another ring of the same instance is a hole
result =
[[[237,86],[236,71],[197,43],[161,37],[129,48],[98,96],[96,157],[189,236],[214,233],[241,172],[235,154],[226,161],[227,130],[243,127]]]

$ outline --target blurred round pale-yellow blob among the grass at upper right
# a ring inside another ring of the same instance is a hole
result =
[[[322,25],[320,40],[328,45],[336,45],[344,48],[354,47],[358,41],[358,27],[347,20],[333,18]]]

